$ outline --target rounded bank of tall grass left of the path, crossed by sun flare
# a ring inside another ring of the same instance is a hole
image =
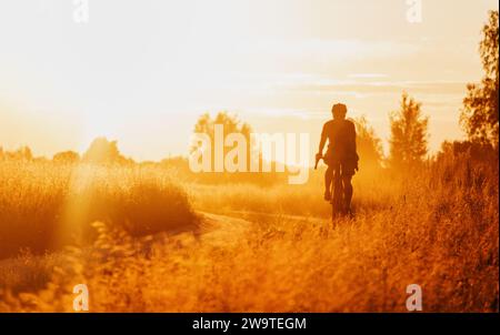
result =
[[[158,169],[0,162],[0,258],[91,243],[94,221],[132,236],[197,224],[184,191]]]

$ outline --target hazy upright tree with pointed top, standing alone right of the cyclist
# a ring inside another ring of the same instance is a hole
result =
[[[392,168],[412,168],[427,154],[429,118],[422,115],[421,103],[402,94],[401,109],[390,115],[389,162]]]

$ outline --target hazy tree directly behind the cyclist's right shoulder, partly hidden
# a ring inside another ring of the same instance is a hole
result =
[[[366,168],[382,168],[383,151],[380,139],[364,116],[354,120],[360,171]]]

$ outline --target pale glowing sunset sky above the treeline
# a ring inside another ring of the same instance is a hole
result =
[[[343,102],[387,148],[407,91],[436,151],[463,138],[481,28],[498,10],[421,0],[412,23],[407,0],[88,0],[78,22],[81,1],[0,0],[0,146],[51,156],[107,136],[161,160],[186,155],[197,118],[224,110],[256,132],[310,133],[312,148]]]

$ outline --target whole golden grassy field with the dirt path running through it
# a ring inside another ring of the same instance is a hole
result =
[[[353,219],[302,186],[151,166],[0,162],[0,312],[499,311],[498,150],[354,176]]]

